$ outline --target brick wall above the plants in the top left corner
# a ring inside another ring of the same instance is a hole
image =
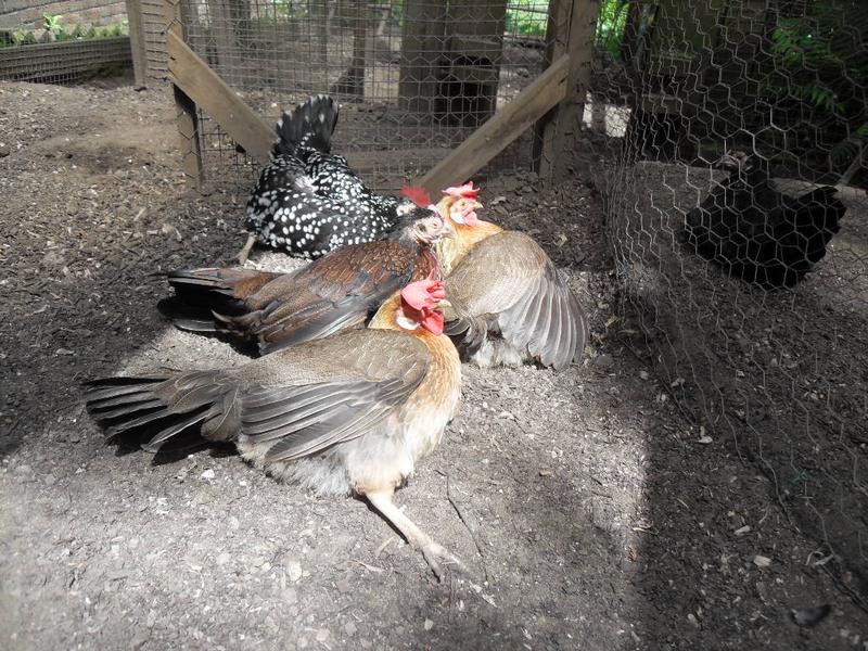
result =
[[[111,25],[127,17],[124,0],[2,0],[0,29],[41,29],[46,12],[62,15],[63,25]]]

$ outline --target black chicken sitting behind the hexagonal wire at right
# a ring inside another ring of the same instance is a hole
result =
[[[792,288],[826,255],[846,207],[824,186],[793,197],[771,187],[756,156],[729,152],[730,173],[685,217],[679,239],[728,275],[767,289]]]

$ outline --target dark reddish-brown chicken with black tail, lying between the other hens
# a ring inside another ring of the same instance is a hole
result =
[[[396,290],[439,276],[432,245],[454,234],[447,220],[418,207],[400,218],[388,240],[344,246],[292,273],[171,272],[177,296],[163,307],[182,330],[228,333],[271,353],[363,327]]]

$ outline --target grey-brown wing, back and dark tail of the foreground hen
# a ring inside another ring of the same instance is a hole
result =
[[[363,330],[224,371],[97,380],[86,385],[86,399],[108,436],[156,429],[148,450],[197,425],[210,441],[240,435],[261,445],[270,462],[366,434],[400,409],[429,366],[427,347],[417,337]]]

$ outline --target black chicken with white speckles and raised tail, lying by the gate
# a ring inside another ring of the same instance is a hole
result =
[[[308,259],[373,242],[416,207],[375,194],[346,158],[330,153],[336,124],[337,106],[328,95],[312,97],[278,120],[271,162],[247,201],[252,234],[239,254],[242,263],[254,241]]]

